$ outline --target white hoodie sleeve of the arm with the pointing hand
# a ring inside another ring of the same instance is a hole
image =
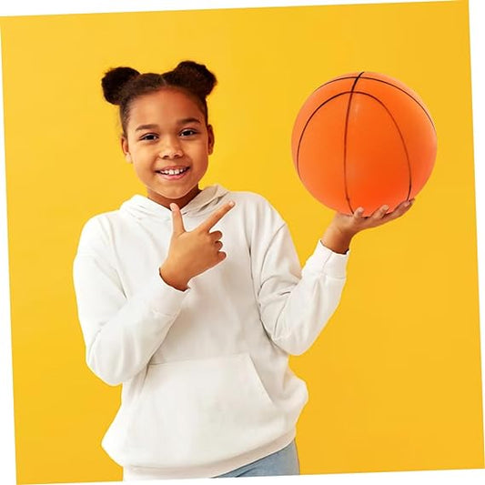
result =
[[[97,217],[83,228],[74,260],[77,312],[86,362],[98,378],[116,386],[143,369],[167,336],[187,291],[153,278],[126,298]]]

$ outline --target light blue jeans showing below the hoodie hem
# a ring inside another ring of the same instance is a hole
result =
[[[276,475],[299,475],[298,452],[295,440],[286,448],[265,458],[253,461],[237,470],[228,471],[216,478],[225,477],[269,477]]]

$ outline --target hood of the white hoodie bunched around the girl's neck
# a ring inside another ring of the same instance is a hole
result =
[[[194,217],[212,212],[220,200],[227,196],[228,190],[219,185],[209,186],[202,189],[185,207],[182,207],[182,216]],[[172,212],[169,208],[158,204],[148,197],[136,195],[126,200],[120,211],[137,219],[145,217],[157,217],[158,219],[171,219]]]

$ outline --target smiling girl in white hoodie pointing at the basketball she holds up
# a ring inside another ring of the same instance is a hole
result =
[[[123,385],[103,447],[124,480],[298,474],[308,394],[288,356],[305,352],[337,307],[351,238],[410,207],[336,214],[301,270],[268,201],[199,188],[215,85],[191,61],[163,75],[117,67],[102,80],[147,187],[87,221],[74,263],[87,365]]]

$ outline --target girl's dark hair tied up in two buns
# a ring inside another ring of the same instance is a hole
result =
[[[126,136],[131,103],[136,97],[154,93],[163,87],[175,87],[194,98],[207,124],[206,97],[216,84],[216,76],[206,66],[194,61],[183,61],[164,74],[140,74],[132,67],[115,67],[108,70],[101,80],[106,101],[119,106],[123,136]]]

